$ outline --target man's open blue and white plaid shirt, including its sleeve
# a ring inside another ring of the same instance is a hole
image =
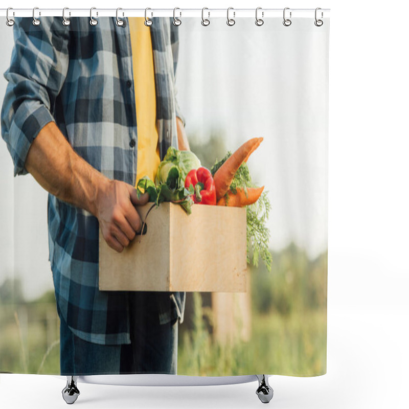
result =
[[[14,175],[26,174],[30,145],[55,121],[73,149],[105,176],[134,186],[137,118],[127,19],[15,18],[15,45],[2,108],[2,137]],[[156,117],[161,157],[177,147],[175,99],[178,32],[169,18],[152,18]],[[129,293],[98,289],[98,219],[48,196],[50,262],[57,308],[73,332],[98,344],[129,344]],[[135,268],[136,272],[138,267]],[[157,292],[161,324],[183,321],[185,293]]]

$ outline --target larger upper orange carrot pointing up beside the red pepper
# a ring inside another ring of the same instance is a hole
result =
[[[216,187],[216,199],[221,199],[224,194],[229,190],[234,175],[239,169],[240,165],[246,160],[246,158],[260,145],[262,138],[253,138],[243,145],[240,146],[239,149],[236,150],[226,160],[223,165],[216,171],[213,176],[214,185]],[[256,146],[254,148],[254,146]]]

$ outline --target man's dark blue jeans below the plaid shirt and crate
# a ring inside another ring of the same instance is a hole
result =
[[[61,375],[176,374],[177,319],[159,323],[152,292],[130,292],[129,303],[130,344],[90,343],[60,317]]]

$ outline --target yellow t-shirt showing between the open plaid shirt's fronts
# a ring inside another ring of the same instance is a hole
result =
[[[138,158],[137,180],[155,180],[161,162],[156,128],[155,73],[150,29],[144,17],[128,17],[132,47],[133,83],[137,106]]]

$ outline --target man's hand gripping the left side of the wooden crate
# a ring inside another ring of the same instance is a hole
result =
[[[145,193],[138,199],[137,190],[119,180],[107,180],[98,192],[96,216],[107,244],[121,253],[135,234],[141,231],[142,220],[135,206],[148,202]]]

